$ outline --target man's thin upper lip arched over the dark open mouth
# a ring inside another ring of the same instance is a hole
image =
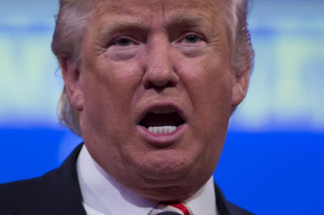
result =
[[[163,108],[166,108],[166,109],[174,109],[178,114],[179,116],[186,122],[187,121],[187,118],[184,114],[184,110],[181,108],[180,105],[176,104],[175,102],[154,102],[154,103],[151,103],[147,106],[145,106],[144,110],[141,112],[138,120],[137,120],[137,124],[139,124],[141,122],[141,120],[145,117],[145,115],[147,113],[149,113],[150,111],[152,111],[153,109],[163,109]]]

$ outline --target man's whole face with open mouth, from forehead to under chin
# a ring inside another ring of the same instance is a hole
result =
[[[186,198],[216,167],[235,82],[222,7],[96,3],[79,69],[80,127],[96,162],[143,196]]]

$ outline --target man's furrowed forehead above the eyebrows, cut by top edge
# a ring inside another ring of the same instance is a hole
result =
[[[144,20],[154,20],[162,15],[166,21],[179,15],[197,15],[208,21],[220,18],[221,0],[95,0],[95,18],[136,16]]]

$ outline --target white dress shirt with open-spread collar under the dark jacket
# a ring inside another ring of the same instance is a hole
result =
[[[113,179],[95,162],[85,145],[77,157],[76,169],[88,215],[146,215],[158,203]],[[213,177],[184,202],[195,215],[218,215]]]

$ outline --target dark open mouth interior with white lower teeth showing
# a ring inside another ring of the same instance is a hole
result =
[[[185,121],[173,108],[153,108],[145,114],[140,125],[154,134],[167,134],[174,132]]]

